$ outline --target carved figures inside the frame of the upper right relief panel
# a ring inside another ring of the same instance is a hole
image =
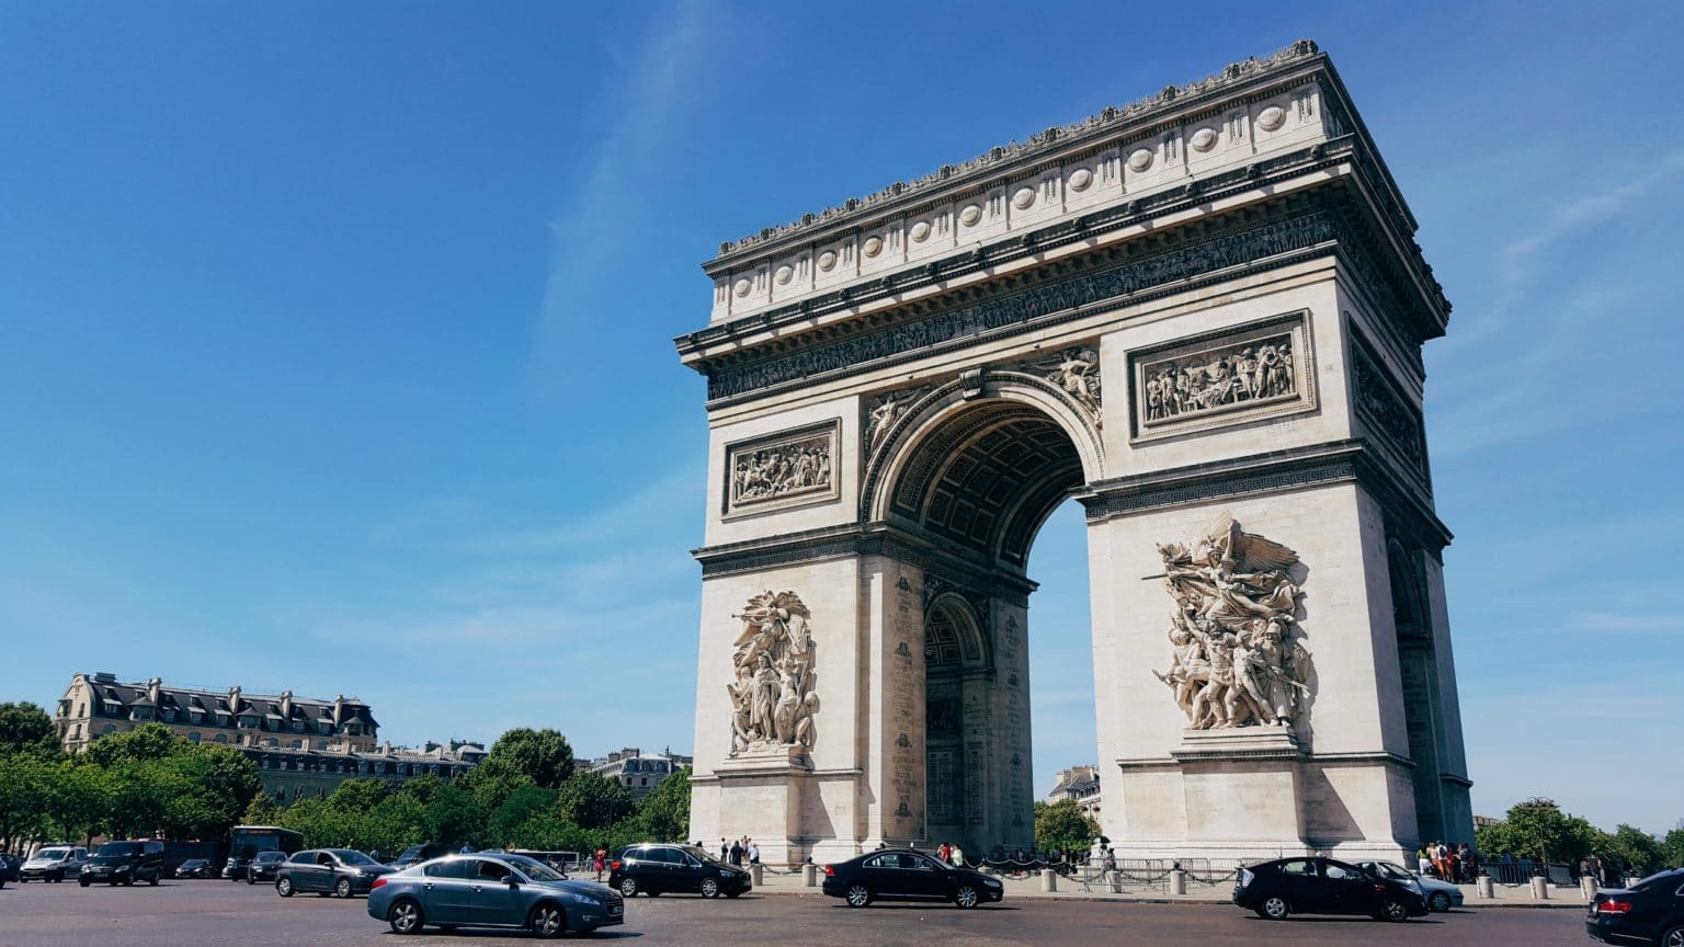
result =
[[[1197,415],[1228,404],[1297,393],[1292,344],[1271,339],[1207,352],[1180,364],[1162,362],[1147,374],[1147,420]]]

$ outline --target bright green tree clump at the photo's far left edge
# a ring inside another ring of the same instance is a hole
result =
[[[229,746],[195,746],[163,726],[106,736],[67,757],[35,704],[0,704],[0,848],[32,841],[221,837],[263,792]]]

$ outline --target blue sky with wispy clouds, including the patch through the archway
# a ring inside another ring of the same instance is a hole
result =
[[[721,239],[1298,37],[1455,303],[1475,811],[1684,817],[1676,3],[0,3],[0,699],[357,693],[689,750]],[[1083,527],[1039,784],[1093,762]]]

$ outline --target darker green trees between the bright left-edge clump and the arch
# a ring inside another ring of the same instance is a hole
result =
[[[387,856],[418,841],[549,851],[685,841],[689,819],[689,768],[635,802],[618,780],[574,772],[573,750],[554,730],[510,730],[485,762],[455,780],[347,780],[323,799],[278,809],[263,797],[246,812],[249,824],[303,832],[312,848],[379,849]]]

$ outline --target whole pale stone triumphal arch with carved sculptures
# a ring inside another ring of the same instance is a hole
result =
[[[1415,229],[1300,42],[721,246],[690,834],[1029,846],[1074,495],[1120,853],[1470,837]]]

